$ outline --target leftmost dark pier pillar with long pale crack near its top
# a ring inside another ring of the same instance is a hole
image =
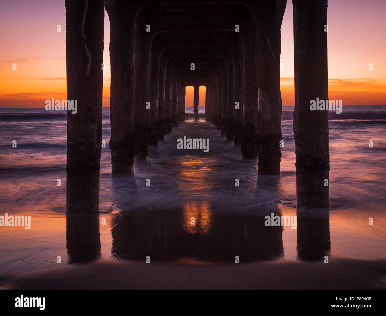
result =
[[[67,213],[98,213],[102,150],[103,0],[66,0]],[[75,103],[76,102],[76,103]],[[75,111],[74,111],[75,112]]]

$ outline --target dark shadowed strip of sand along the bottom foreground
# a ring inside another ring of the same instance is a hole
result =
[[[386,260],[92,264],[0,275],[0,289],[386,289]]]

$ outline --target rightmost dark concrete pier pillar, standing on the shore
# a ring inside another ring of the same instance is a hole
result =
[[[297,206],[329,205],[328,111],[310,110],[328,100],[327,0],[293,0]],[[328,102],[328,101],[327,101]]]

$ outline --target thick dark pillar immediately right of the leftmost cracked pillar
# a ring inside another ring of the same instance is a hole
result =
[[[134,8],[109,2],[110,20],[110,150],[112,174],[132,173],[134,164]]]

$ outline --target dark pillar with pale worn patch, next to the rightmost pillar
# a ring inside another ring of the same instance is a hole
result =
[[[256,117],[256,144],[259,174],[280,174],[281,93],[280,28],[286,0],[256,2],[256,68],[259,110]]]

